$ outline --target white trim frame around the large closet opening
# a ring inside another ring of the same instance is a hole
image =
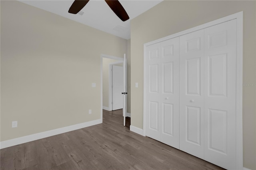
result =
[[[243,12],[238,12],[218,20],[154,40],[144,44],[144,106],[143,106],[143,136],[146,136],[146,47],[171,38],[182,36],[197,30],[201,30],[222,22],[236,19],[236,169],[243,169],[243,131],[242,131],[242,83],[243,83]]]

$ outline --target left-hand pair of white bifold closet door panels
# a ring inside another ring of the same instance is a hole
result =
[[[146,136],[179,148],[179,38],[146,53]]]

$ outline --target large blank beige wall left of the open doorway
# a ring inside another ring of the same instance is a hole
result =
[[[1,141],[100,119],[100,54],[123,56],[127,40],[18,1],[0,3]]]

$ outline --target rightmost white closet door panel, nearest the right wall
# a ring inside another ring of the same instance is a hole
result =
[[[204,159],[236,169],[236,20],[204,34]]]

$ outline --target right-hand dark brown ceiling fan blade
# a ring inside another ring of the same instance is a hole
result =
[[[112,11],[122,20],[126,21],[129,19],[128,14],[124,10],[124,7],[118,0],[105,0]]]

